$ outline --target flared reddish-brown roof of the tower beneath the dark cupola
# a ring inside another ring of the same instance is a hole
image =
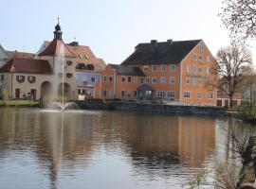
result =
[[[64,52],[62,52],[62,46],[64,47]],[[38,56],[66,56],[66,57],[77,57],[69,48],[67,48],[66,44],[62,40],[54,39],[51,43],[49,43],[46,49],[39,53]]]

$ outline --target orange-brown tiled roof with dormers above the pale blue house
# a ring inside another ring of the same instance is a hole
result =
[[[48,46],[50,42],[46,41],[45,44]],[[96,72],[101,72],[105,69],[104,60],[98,59],[89,46],[66,44],[66,47],[76,56],[75,63],[93,64]]]

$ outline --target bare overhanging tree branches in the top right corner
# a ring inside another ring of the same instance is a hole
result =
[[[224,0],[219,14],[223,24],[231,31],[231,37],[254,38],[256,36],[256,0]]]

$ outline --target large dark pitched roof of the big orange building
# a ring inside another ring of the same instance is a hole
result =
[[[168,41],[157,43],[138,43],[135,52],[124,60],[122,65],[144,64],[144,63],[179,63],[201,40],[192,41]]]

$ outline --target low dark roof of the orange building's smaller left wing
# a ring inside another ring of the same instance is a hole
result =
[[[137,66],[126,66],[117,64],[108,65],[116,70],[117,75],[145,77],[145,74]]]

